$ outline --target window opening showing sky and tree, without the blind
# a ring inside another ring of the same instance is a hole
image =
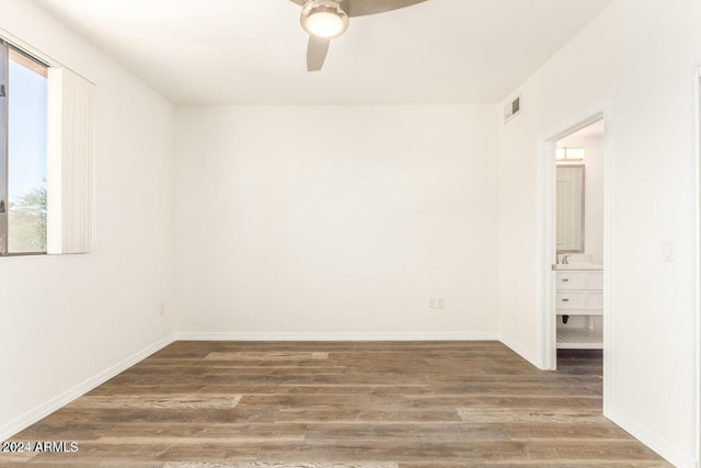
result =
[[[0,251],[45,253],[48,67],[0,44]]]

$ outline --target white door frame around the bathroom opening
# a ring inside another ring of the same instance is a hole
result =
[[[556,193],[555,193],[555,142],[582,128],[604,119],[604,408],[610,401],[611,379],[611,240],[612,240],[612,118],[610,103],[604,102],[559,124],[544,138],[538,140],[538,356],[540,368],[556,369],[556,317],[554,300],[554,275],[552,265],[556,263]]]

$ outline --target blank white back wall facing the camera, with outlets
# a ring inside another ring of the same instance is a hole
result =
[[[496,122],[494,106],[179,109],[182,329],[496,338]]]

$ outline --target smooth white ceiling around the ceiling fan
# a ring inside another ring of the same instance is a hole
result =
[[[313,73],[289,0],[34,1],[177,104],[409,104],[501,102],[613,0],[428,0],[354,18]]]

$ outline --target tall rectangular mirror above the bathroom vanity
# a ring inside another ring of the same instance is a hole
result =
[[[584,252],[584,164],[558,165],[558,253]]]

